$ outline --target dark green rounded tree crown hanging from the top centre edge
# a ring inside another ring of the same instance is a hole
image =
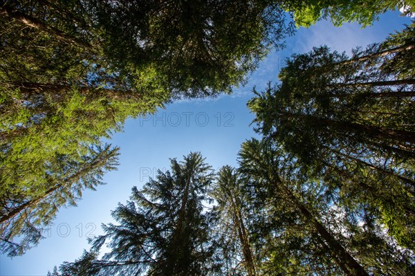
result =
[[[232,91],[291,33],[283,10],[268,1],[92,3],[105,55],[123,74],[152,64],[174,98]]]

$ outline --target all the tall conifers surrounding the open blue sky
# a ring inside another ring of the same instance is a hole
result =
[[[286,11],[297,26],[365,26],[400,6],[414,3],[2,1],[0,251],[35,246],[59,208],[116,169],[118,148],[102,138],[124,120],[243,84],[293,33]],[[411,273],[414,37],[412,24],[351,58],[294,56],[249,102],[264,138],[243,144],[238,169],[172,160],[61,272]]]

